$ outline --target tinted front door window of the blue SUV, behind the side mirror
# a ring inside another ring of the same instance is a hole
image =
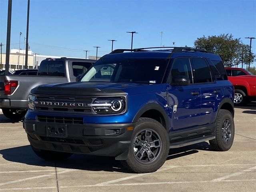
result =
[[[178,58],[174,61],[171,71],[172,82],[174,82],[174,78],[176,76],[186,76],[190,79],[190,83],[193,82],[190,62],[188,58]]]

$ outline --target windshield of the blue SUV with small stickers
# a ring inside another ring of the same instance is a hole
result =
[[[160,84],[168,59],[102,59],[83,76],[82,82],[134,82]]]

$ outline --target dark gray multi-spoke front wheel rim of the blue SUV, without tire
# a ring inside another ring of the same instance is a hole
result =
[[[152,129],[140,131],[133,141],[133,154],[142,164],[155,161],[162,150],[162,140],[159,134]]]

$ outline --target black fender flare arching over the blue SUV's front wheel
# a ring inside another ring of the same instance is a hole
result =
[[[164,117],[164,125],[166,126],[166,130],[169,131],[170,129],[170,118],[168,116],[168,114],[166,113],[166,111],[164,110],[164,108],[162,108],[162,106],[160,106],[159,104],[156,103],[150,103],[150,104],[146,104],[145,106],[143,106],[135,115],[135,117],[133,118],[132,122],[137,122],[138,119],[142,116],[142,114],[144,114],[144,112],[148,111],[148,110],[157,110],[158,112],[160,112],[160,114],[162,114],[162,116]]]

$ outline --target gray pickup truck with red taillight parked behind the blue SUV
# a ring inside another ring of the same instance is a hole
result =
[[[36,76],[5,75],[0,77],[0,108],[9,119],[20,119],[28,108],[28,94],[42,84],[75,82],[96,60],[47,58]]]

